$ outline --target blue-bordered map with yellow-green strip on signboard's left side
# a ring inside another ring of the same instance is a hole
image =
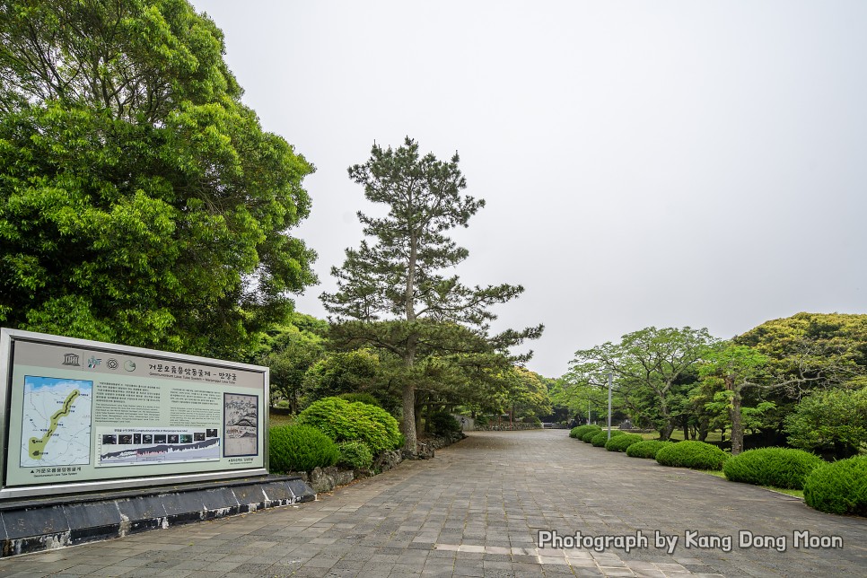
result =
[[[93,381],[24,376],[21,467],[91,461]]]

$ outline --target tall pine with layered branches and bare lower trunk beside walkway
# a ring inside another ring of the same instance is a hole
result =
[[[422,156],[407,137],[396,149],[373,145],[367,162],[350,167],[350,179],[363,186],[368,200],[388,207],[388,214],[358,213],[373,242],[364,240],[357,250],[346,250],[343,267],[332,269],[337,292],[322,295],[338,321],[355,321],[341,329],[347,341],[380,347],[401,360],[401,430],[411,454],[416,453],[416,366],[422,356],[490,347],[505,352],[524,338],[538,337],[542,329],[488,338],[488,323],[495,319],[489,307],[518,296],[523,288],[469,287],[446,274],[469,254],[446,232],[466,227],[485,205],[461,193],[466,180],[458,162],[457,154],[449,162],[433,153]],[[469,338],[468,331],[477,339]]]

